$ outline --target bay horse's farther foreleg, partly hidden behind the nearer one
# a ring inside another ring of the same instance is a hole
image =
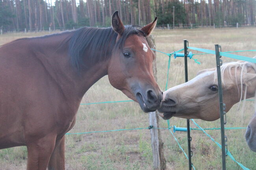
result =
[[[56,142],[48,164],[48,170],[65,170],[65,136]]]

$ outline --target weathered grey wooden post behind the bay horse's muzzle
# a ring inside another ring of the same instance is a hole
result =
[[[148,40],[148,45],[150,48],[156,49],[156,46],[154,45],[154,36],[150,36]],[[156,55],[156,51],[154,51]],[[156,78],[156,59],[153,62],[153,72],[154,77]],[[151,135],[151,146],[152,146],[152,152],[153,152],[153,166],[154,170],[165,170],[166,169],[166,163],[165,158],[163,154],[163,142],[160,135],[160,129],[159,125],[159,117],[158,113],[156,112],[149,112],[149,125],[153,126],[152,129],[150,129],[150,135]]]

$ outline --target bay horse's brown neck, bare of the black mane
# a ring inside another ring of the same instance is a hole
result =
[[[72,100],[80,102],[85,92],[96,81],[107,75],[108,60],[77,71],[72,66],[68,54],[70,36],[72,32],[48,37],[39,43],[38,40],[35,42],[38,44],[37,50],[45,54],[40,60],[49,70],[51,77],[59,84],[65,97],[68,99],[72,97]]]

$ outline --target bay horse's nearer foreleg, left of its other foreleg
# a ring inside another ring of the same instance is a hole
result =
[[[36,140],[31,139],[30,143],[27,144],[27,170],[46,170],[55,143],[56,136],[46,136]]]

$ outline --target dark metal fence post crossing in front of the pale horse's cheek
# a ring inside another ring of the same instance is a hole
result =
[[[218,77],[218,89],[219,89],[219,108],[220,108],[220,119],[221,119],[221,150],[222,150],[222,170],[226,170],[226,152],[228,150],[227,148],[227,137],[225,136],[225,129],[224,124],[226,124],[226,121],[224,121],[224,115],[226,116],[225,110],[225,104],[223,103],[223,97],[222,97],[222,87],[221,87],[221,65],[222,60],[220,59],[221,56],[219,55],[219,49],[221,49],[221,46],[219,44],[215,44],[215,55],[216,55],[216,65],[217,65],[217,77]]]

